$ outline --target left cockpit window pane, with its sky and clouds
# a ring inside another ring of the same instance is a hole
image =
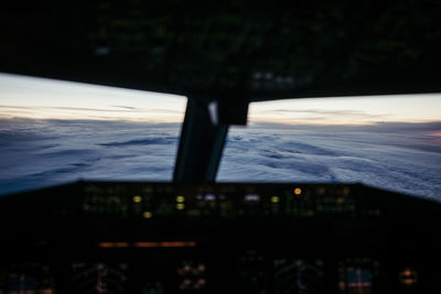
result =
[[[0,74],[0,195],[83,179],[171,181],[186,98]]]

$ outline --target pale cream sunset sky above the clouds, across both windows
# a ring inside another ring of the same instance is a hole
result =
[[[0,118],[181,122],[185,97],[0,74]],[[288,99],[250,105],[249,123],[441,121],[441,94]]]

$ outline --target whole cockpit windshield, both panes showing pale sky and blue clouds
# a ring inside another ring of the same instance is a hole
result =
[[[0,75],[0,194],[172,181],[186,98]],[[364,183],[439,199],[441,95],[252,102],[216,181]]]

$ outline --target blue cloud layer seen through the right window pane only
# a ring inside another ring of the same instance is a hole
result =
[[[365,183],[440,198],[439,123],[233,129],[219,181]]]

